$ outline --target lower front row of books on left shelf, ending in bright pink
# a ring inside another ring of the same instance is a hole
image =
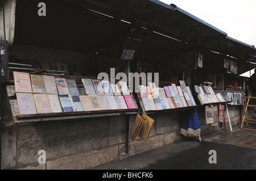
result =
[[[67,95],[16,92],[20,115],[136,108],[131,95]]]

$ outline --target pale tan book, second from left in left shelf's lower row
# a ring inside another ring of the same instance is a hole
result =
[[[38,113],[52,112],[47,94],[33,94]]]

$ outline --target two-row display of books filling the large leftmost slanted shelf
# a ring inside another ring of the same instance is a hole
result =
[[[14,87],[22,115],[52,112],[122,110],[138,108],[126,82],[55,78],[14,71]],[[81,90],[82,89],[82,90]]]

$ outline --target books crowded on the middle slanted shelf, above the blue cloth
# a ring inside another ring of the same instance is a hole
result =
[[[196,106],[189,86],[180,81],[180,86],[156,87],[154,82],[148,86],[139,86],[139,102],[143,111],[168,110],[174,108]]]

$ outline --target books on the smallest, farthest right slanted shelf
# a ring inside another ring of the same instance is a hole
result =
[[[211,86],[195,85],[197,98],[201,105],[209,103],[230,102],[224,90],[212,89]]]

